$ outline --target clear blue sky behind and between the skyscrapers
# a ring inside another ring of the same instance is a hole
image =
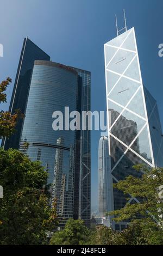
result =
[[[115,14],[123,26],[126,9],[128,28],[135,27],[143,82],[158,101],[163,124],[162,0],[1,0],[0,81],[12,78],[7,90],[8,109],[23,38],[28,36],[54,62],[91,71],[92,111],[105,111],[103,44],[116,36]],[[92,206],[97,206],[97,153],[100,132],[92,132]]]

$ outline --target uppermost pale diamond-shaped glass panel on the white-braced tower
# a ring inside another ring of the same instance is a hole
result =
[[[124,70],[126,70],[127,66],[130,64],[131,60],[134,58],[135,54],[136,53],[134,52],[118,50],[115,57],[111,60],[107,68],[119,74],[122,74]]]

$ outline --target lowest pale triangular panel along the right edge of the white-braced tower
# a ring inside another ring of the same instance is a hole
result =
[[[141,117],[143,118],[146,117],[141,88],[136,93],[133,100],[131,100],[127,108],[135,112],[136,114],[141,115]]]

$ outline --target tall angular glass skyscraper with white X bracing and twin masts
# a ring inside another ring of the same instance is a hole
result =
[[[156,101],[143,86],[134,28],[104,45],[110,179],[139,176],[135,164],[163,166],[162,130]],[[129,197],[129,196],[128,196]],[[110,210],[123,208],[126,197],[112,188]],[[130,198],[129,203],[139,203]],[[125,222],[112,223],[116,230]]]

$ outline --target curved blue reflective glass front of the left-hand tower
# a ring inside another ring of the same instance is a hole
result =
[[[29,143],[26,154],[39,160],[48,172],[52,198],[57,198],[61,217],[73,217],[75,132],[54,131],[54,111],[65,113],[65,106],[76,109],[78,74],[64,65],[36,60],[24,119],[20,150]],[[65,124],[64,124],[65,125]]]

